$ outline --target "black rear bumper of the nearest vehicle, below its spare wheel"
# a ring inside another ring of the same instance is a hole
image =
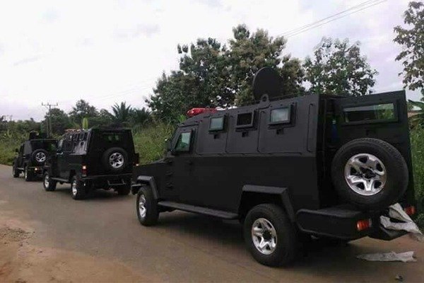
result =
[[[406,231],[384,229],[379,216],[387,212],[361,212],[355,207],[343,204],[326,209],[300,209],[296,214],[296,222],[300,231],[316,236],[355,240],[370,236],[385,241],[404,236]],[[358,231],[358,221],[370,219],[370,228]]]

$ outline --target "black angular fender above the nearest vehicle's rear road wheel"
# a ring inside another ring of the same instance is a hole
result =
[[[295,221],[295,212],[288,195],[287,187],[244,185],[238,207],[238,214],[241,218],[244,218],[252,207],[265,203],[280,205],[287,213],[290,221]]]

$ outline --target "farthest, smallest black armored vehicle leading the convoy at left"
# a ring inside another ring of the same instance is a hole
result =
[[[26,181],[41,177],[47,158],[56,152],[56,143],[56,139],[47,139],[36,132],[30,132],[28,141],[16,149],[18,155],[13,160],[13,178],[18,178],[20,173],[23,173]]]

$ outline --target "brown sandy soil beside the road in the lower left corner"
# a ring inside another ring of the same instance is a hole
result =
[[[0,217],[0,282],[145,282],[122,262],[35,246],[30,225]]]

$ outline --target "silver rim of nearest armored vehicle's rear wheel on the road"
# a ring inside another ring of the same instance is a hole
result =
[[[277,232],[268,219],[259,218],[252,224],[254,247],[264,255],[271,255],[277,247]]]

